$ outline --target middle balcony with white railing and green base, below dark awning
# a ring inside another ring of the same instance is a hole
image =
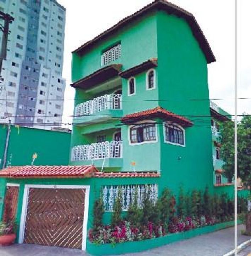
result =
[[[97,123],[122,116],[122,94],[106,94],[76,106],[77,123]]]

